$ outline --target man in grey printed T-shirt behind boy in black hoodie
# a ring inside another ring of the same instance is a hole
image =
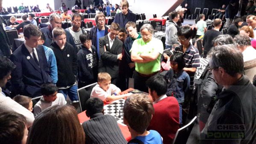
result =
[[[76,44],[77,52],[78,52],[79,45],[81,44],[79,35],[86,33],[85,30],[80,28],[82,24],[82,16],[79,13],[74,13],[74,15],[72,15],[72,18],[71,18],[71,23],[73,24],[73,26],[66,28],[65,30],[70,32],[70,34],[72,35]]]

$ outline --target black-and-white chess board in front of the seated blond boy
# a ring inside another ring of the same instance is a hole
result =
[[[115,100],[112,103],[109,103],[107,105],[105,105],[103,107],[104,109],[104,114],[105,115],[112,115],[116,118],[117,122],[121,125],[124,125],[124,112],[123,112],[123,108],[124,108],[124,99],[120,99],[120,100]],[[119,116],[119,112],[120,112],[120,116]]]

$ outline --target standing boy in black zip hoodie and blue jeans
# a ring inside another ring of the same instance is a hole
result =
[[[54,43],[50,48],[53,50],[57,61],[58,82],[56,86],[59,93],[70,98],[73,103],[78,102],[77,95],[77,54],[75,48],[66,42],[66,33],[62,28],[53,29]]]

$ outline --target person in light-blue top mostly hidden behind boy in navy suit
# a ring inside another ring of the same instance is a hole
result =
[[[45,35],[42,32],[41,39],[38,41],[38,44],[42,45],[44,47],[44,53],[47,59],[47,63],[50,70],[50,76],[52,78],[52,82],[54,84],[58,81],[58,71],[57,71],[57,63],[56,63],[56,57],[53,53],[53,50],[50,47],[44,46],[45,41]]]

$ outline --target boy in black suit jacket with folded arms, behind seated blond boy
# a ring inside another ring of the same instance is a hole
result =
[[[99,39],[100,60],[99,73],[107,72],[111,76],[111,83],[116,85],[119,70],[119,60],[122,60],[123,42],[117,38],[120,27],[117,23],[112,23],[109,34]]]

